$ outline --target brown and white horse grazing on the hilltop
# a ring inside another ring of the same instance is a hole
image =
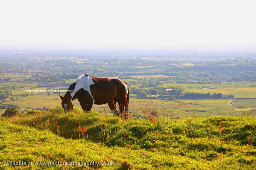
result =
[[[64,112],[73,110],[72,101],[78,100],[84,112],[90,112],[92,106],[108,103],[113,115],[128,116],[129,87],[127,83],[118,78],[97,78],[91,75],[81,75],[72,83],[66,94],[60,96]],[[116,102],[119,111],[116,109]]]

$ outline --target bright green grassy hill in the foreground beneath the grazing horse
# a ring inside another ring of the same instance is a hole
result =
[[[61,107],[34,115],[0,118],[0,169],[4,161],[97,161],[103,169],[254,169],[256,118],[212,117],[166,121],[89,114]],[[166,114],[166,113],[163,113]],[[62,166],[13,166],[62,169]],[[66,166],[89,169],[94,166]]]

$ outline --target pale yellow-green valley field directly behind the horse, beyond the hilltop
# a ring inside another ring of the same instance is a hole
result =
[[[57,100],[56,100],[57,99]],[[241,113],[237,112],[235,107],[228,105],[229,100],[182,100],[184,106],[183,111],[186,111],[188,116],[193,116],[197,112],[199,117],[209,117],[217,115],[232,115],[232,116],[241,116]],[[80,107],[78,100],[72,102],[75,106]],[[192,103],[193,105],[189,105]],[[31,95],[26,97],[21,97],[18,101],[7,101],[3,105],[18,105],[20,110],[27,111],[28,108],[48,108],[61,106],[61,100],[59,95]],[[131,115],[138,113],[141,115],[141,112],[145,107],[154,111],[157,109],[158,112],[161,112],[162,109],[166,108],[171,114],[172,117],[184,118],[184,113],[179,109],[179,100],[170,101],[170,100],[159,100],[159,99],[130,99],[129,102],[129,112]],[[103,113],[103,107],[107,113],[111,113],[107,104],[104,105],[93,105],[92,109]],[[1,111],[1,110],[0,110]],[[1,111],[4,112],[4,109]],[[255,115],[252,113],[252,116]]]

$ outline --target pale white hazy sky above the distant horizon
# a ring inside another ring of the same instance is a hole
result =
[[[0,2],[0,48],[256,48],[256,1]]]

